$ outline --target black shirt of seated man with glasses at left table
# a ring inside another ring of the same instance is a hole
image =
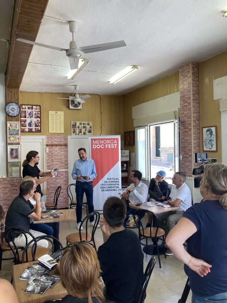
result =
[[[5,218],[5,232],[12,227],[23,228],[27,231],[30,229],[30,218],[28,215],[33,213],[34,206],[30,201],[19,194],[10,204]],[[16,238],[20,235],[18,231],[12,233],[12,237]]]

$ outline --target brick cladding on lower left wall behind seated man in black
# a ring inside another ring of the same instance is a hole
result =
[[[9,205],[12,203],[14,198],[19,194],[19,187],[22,178],[0,178],[0,205],[2,205],[5,216],[8,211]],[[5,222],[5,217],[2,223]]]

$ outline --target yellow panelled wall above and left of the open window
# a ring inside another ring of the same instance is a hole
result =
[[[179,72],[139,88],[123,96],[124,132],[134,130],[132,107],[157,98],[179,92]],[[126,150],[135,152],[135,145],[126,145]]]

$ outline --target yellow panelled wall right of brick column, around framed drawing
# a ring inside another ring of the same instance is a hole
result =
[[[199,64],[199,120],[200,120],[200,151],[202,145],[202,127],[217,126],[218,151],[209,152],[209,158],[218,158],[221,154],[221,114],[219,100],[213,98],[213,80],[227,75],[227,52],[223,52]]]

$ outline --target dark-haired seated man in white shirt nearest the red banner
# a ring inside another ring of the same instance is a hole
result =
[[[123,191],[121,195],[124,198],[128,198],[130,201],[129,206],[127,206],[124,227],[126,227],[126,222],[128,223],[129,226],[133,226],[135,223],[133,219],[133,214],[136,211],[136,209],[130,208],[130,205],[136,205],[138,203],[141,204],[146,202],[148,187],[146,186],[146,184],[140,181],[141,178],[142,178],[142,173],[140,171],[132,170],[130,174],[130,181],[133,182],[133,184],[130,184],[129,187],[127,187],[127,189]],[[144,214],[141,215],[141,218],[143,218]]]

